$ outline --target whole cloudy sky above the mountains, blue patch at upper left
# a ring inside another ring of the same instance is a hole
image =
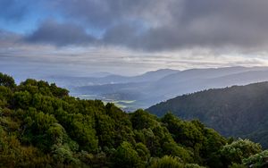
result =
[[[265,0],[0,0],[0,71],[266,66],[267,9]]]

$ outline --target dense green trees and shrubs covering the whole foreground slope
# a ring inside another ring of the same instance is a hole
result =
[[[172,113],[124,113],[0,73],[0,167],[264,167],[267,151]]]

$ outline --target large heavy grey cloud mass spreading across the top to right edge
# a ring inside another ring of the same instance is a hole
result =
[[[21,5],[18,1],[3,2],[13,9],[9,13],[22,13],[14,10]],[[43,22],[26,38],[28,42],[126,46],[151,52],[268,48],[268,1],[264,0],[43,0],[42,4],[42,11],[59,16],[61,23],[55,18]]]

